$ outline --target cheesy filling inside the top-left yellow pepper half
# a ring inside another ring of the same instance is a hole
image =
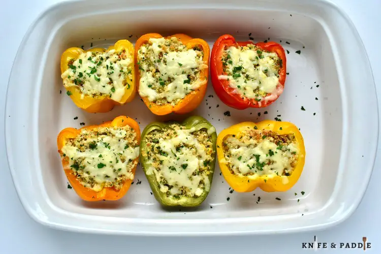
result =
[[[84,52],[62,73],[63,86],[78,87],[81,99],[86,96],[108,95],[120,102],[126,79],[131,80],[133,59],[128,51],[117,53],[114,49],[105,52]]]

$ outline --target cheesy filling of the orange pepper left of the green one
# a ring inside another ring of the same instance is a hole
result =
[[[82,130],[61,151],[69,157],[68,169],[85,187],[97,192],[105,186],[118,189],[124,180],[134,179],[132,169],[139,156],[135,137],[131,128],[104,128],[98,133]]]

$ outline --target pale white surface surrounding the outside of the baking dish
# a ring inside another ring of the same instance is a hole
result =
[[[45,228],[28,217],[15,192],[10,176],[4,145],[4,105],[9,73],[14,56],[30,23],[46,8],[59,0],[7,1],[0,8],[0,253],[304,253],[312,250],[302,249],[302,242],[313,241],[314,235],[320,242],[362,242],[366,236],[371,242],[368,252],[380,253],[379,240],[381,226],[378,215],[381,213],[381,155],[376,158],[369,187],[357,211],[344,223],[334,228],[302,234],[245,236],[245,237],[208,237],[208,238],[161,238],[161,237],[124,237],[101,236],[62,232]],[[368,0],[366,4],[358,0],[332,0],[352,19],[368,52],[377,89],[381,89],[381,10],[380,0]],[[354,59],[355,60],[355,59]],[[27,82],[27,80],[25,80]],[[359,84],[361,85],[361,84]],[[379,96],[379,93],[378,93]],[[380,98],[380,97],[379,97]],[[380,103],[379,103],[380,104]],[[366,114],[366,112],[364,112]],[[379,149],[379,148],[378,148]],[[379,154],[379,150],[378,150]],[[361,169],[360,171],[361,172]],[[359,174],[361,177],[361,173]],[[356,186],[354,186],[356,188]],[[360,249],[326,249],[321,252],[360,253]]]

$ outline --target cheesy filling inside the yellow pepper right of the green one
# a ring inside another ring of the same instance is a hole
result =
[[[223,163],[236,175],[291,175],[299,153],[294,143],[278,145],[266,137],[242,141],[229,136],[225,142],[229,148]]]

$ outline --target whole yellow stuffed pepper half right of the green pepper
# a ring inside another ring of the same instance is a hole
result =
[[[218,163],[237,192],[260,187],[285,192],[299,179],[305,160],[303,137],[290,122],[241,122],[217,138]]]

